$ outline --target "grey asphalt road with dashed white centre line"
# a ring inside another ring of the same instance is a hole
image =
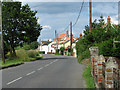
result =
[[[4,69],[3,88],[86,88],[85,66],[71,56],[43,55],[34,62]]]

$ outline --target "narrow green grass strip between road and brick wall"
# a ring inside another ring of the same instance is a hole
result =
[[[86,81],[86,84],[87,84],[87,88],[92,88],[95,90],[95,84],[94,84],[94,80],[91,76],[91,67],[90,65],[88,65],[86,68],[85,68],[85,71],[83,72],[83,77]]]

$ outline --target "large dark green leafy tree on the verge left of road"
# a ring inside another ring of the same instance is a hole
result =
[[[22,6],[21,2],[2,3],[5,54],[10,51],[11,56],[16,56],[16,46],[37,41],[42,27],[37,23],[36,13],[37,11],[32,11],[28,4]]]

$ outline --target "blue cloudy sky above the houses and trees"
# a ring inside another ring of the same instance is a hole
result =
[[[36,17],[39,18],[38,23],[40,23],[40,25],[43,27],[38,41],[40,38],[41,40],[55,38],[55,30],[57,30],[58,35],[66,33],[65,28],[68,26],[70,21],[72,21],[73,24],[75,23],[82,5],[82,2],[73,2],[73,0],[69,0],[69,2],[67,0],[66,2],[27,2],[27,0],[20,1],[22,1],[23,5],[28,4],[31,10],[38,11]],[[104,17],[105,22],[107,22],[107,17],[110,16],[112,23],[118,24],[118,1],[114,0],[113,2],[93,2],[92,21],[94,19],[99,19],[101,15]],[[73,27],[73,35],[75,38],[78,38],[80,33],[83,33],[86,25],[89,25],[88,2],[84,3],[80,18],[77,24]],[[70,30],[70,27],[68,30]]]

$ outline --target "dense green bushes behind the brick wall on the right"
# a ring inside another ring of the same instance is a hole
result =
[[[89,32],[89,26],[85,26],[84,36],[79,39],[76,44],[77,57],[79,61],[89,58],[89,48],[91,46],[99,47],[99,54],[104,56],[115,56],[120,58],[120,43],[115,43],[113,47],[113,40],[120,41],[120,30],[116,25],[108,23],[106,27],[104,19],[101,16],[92,23],[92,32]]]

